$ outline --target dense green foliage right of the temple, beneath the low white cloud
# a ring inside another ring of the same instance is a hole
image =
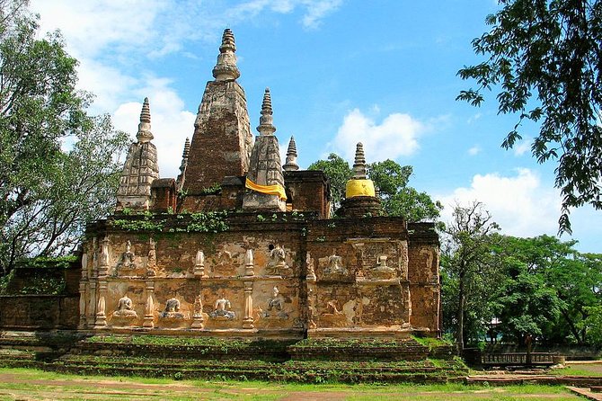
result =
[[[450,234],[457,236],[449,232],[446,236]],[[461,290],[458,266],[463,248],[449,246],[454,236],[444,242],[441,260],[447,331],[463,326],[463,336],[473,344],[486,335],[495,341],[500,334],[505,341],[521,344],[528,335],[540,343],[599,343],[596,314],[602,306],[602,255],[580,254],[574,249],[576,241],[562,242],[554,236],[493,233],[480,248],[479,266],[466,269],[470,280],[464,276]],[[477,244],[478,238],[467,243]],[[474,254],[472,249],[467,254]],[[462,292],[465,307],[460,317]],[[498,321],[495,326],[490,325],[493,317]]]

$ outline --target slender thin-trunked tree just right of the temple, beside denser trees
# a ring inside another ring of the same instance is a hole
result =
[[[480,298],[491,294],[499,281],[498,264],[493,263],[491,246],[497,239],[493,234],[500,227],[477,201],[467,206],[456,205],[452,216],[453,220],[444,232],[441,271],[449,281],[444,283],[446,288],[455,289],[454,294],[444,292],[443,296],[447,305],[455,309],[456,342],[462,350],[467,313],[474,314],[473,323],[480,322],[481,325],[491,322],[493,317],[487,302]]]

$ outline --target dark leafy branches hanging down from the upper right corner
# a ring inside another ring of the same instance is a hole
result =
[[[602,209],[602,1],[500,4],[486,19],[491,31],[473,40],[474,51],[489,58],[458,72],[478,87],[457,99],[478,106],[484,90],[499,92],[500,113],[518,114],[505,148],[522,138],[524,120],[540,123],[531,150],[539,163],[557,160],[560,232],[570,233],[570,208]]]

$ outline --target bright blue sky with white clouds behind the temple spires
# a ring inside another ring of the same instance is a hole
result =
[[[493,0],[33,0],[44,31],[62,31],[80,60],[79,86],[96,95],[134,138],[150,99],[162,177],[175,177],[184,138],[212,80],[224,28],[235,33],[239,82],[252,129],[269,86],[281,147],[294,135],[299,164],[330,152],[352,161],[359,141],[367,161],[412,165],[411,185],[445,205],[480,200],[502,232],[555,234],[560,198],[554,164],[530,156],[536,126],[506,151],[516,122],[456,102],[473,85],[456,72],[477,63],[471,40],[487,30]],[[571,214],[582,252],[602,252],[602,213]],[[563,236],[563,239],[570,239]]]

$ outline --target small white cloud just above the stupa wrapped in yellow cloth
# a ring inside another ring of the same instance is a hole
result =
[[[425,129],[425,124],[409,114],[389,114],[378,124],[354,109],[345,116],[331,146],[336,153],[352,159],[356,144],[362,142],[371,162],[396,159],[410,156],[419,149],[418,137]]]

